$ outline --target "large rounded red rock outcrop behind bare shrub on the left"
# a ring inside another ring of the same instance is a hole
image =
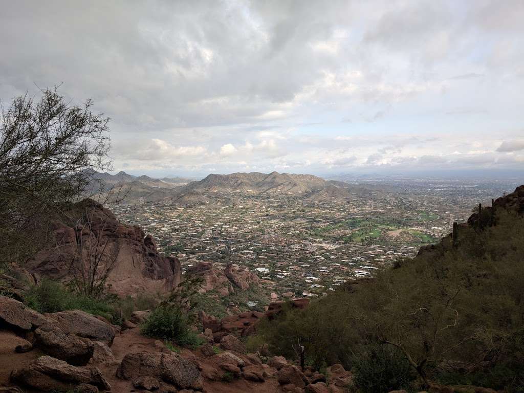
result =
[[[161,256],[152,236],[145,236],[140,227],[118,222],[110,210],[91,200],[82,201],[68,215],[72,217],[71,222],[77,224],[55,223],[55,242],[28,261],[27,269],[37,279],[70,280],[79,242],[100,239],[101,244],[107,243],[102,265],[116,258],[107,279],[113,292],[122,296],[166,292],[180,283],[179,260]],[[84,257],[89,255],[90,250],[84,250]]]

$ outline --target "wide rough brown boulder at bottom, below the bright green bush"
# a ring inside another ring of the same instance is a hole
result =
[[[199,369],[175,353],[140,352],[124,356],[116,371],[121,379],[152,377],[182,389],[201,389]]]

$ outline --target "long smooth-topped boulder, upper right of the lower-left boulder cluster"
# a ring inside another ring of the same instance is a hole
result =
[[[61,311],[46,314],[62,332],[75,334],[86,339],[113,343],[115,330],[113,326],[102,322],[95,316],[80,310]]]

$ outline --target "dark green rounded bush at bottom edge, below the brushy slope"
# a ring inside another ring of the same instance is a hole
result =
[[[354,364],[354,383],[363,393],[387,393],[408,387],[414,379],[410,364],[390,345],[370,345]]]

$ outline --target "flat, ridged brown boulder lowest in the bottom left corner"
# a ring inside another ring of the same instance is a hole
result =
[[[72,390],[80,384],[111,390],[111,385],[96,367],[77,367],[51,356],[41,356],[16,370],[12,379],[41,391]]]

